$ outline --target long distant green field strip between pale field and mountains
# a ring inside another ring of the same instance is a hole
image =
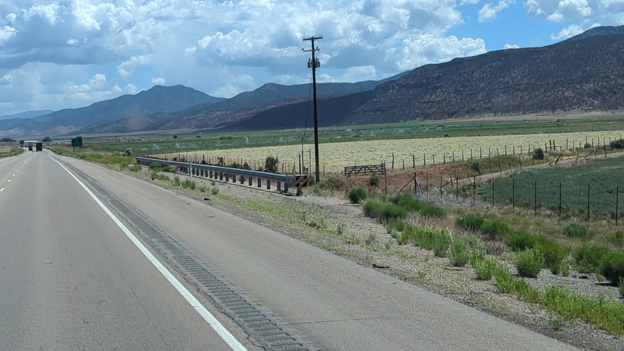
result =
[[[371,141],[391,139],[437,138],[445,135],[498,136],[508,134],[541,134],[562,132],[616,131],[624,129],[624,118],[620,114],[605,114],[598,117],[559,119],[557,116],[518,117],[509,120],[457,120],[401,122],[389,124],[368,124],[362,126],[338,126],[319,129],[321,143],[346,141]],[[134,135],[132,137],[137,137]],[[217,130],[173,135],[167,132],[146,133],[140,141],[131,141],[130,136],[84,137],[85,144],[102,151],[125,151],[134,154],[166,154],[172,152],[238,149],[241,147],[266,147],[311,144],[313,131],[308,128],[270,130],[253,132],[223,132]],[[598,141],[595,141],[596,143]],[[601,141],[602,142],[602,141]]]

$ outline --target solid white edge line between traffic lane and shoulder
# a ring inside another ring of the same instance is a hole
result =
[[[185,288],[184,285],[182,285],[182,283],[180,283],[180,281],[176,279],[176,277],[174,277],[173,274],[171,274],[171,272],[169,272],[169,270],[167,270],[167,268],[165,268],[165,266],[162,263],[160,263],[160,261],[156,257],[154,257],[152,252],[150,252],[145,247],[145,245],[143,245],[142,242],[140,242],[139,239],[137,239],[137,237],[135,237],[134,234],[130,232],[130,229],[128,229],[128,227],[126,227],[121,222],[121,220],[119,220],[112,212],[110,212],[108,207],[106,207],[106,205],[104,205],[104,203],[102,203],[102,201],[100,201],[100,199],[98,199],[97,196],[95,196],[91,192],[91,190],[89,190],[89,188],[87,188],[87,186],[84,185],[84,183],[76,177],[76,175],[74,175],[71,171],[69,171],[69,169],[63,166],[61,162],[56,161],[54,158],[52,158],[48,154],[46,154],[46,156],[50,157],[52,161],[56,162],[57,164],[59,164],[59,166],[63,167],[63,169],[67,173],[69,173],[69,175],[71,175],[72,178],[74,178],[74,180],[78,182],[78,184],[80,184],[82,189],[84,189],[91,196],[91,198],[95,200],[95,202],[102,208],[102,210],[104,210],[104,212],[106,212],[106,214],[109,215],[110,219],[112,219],[113,222],[117,224],[117,227],[119,227],[119,229],[121,229],[122,232],[124,232],[124,234],[128,237],[128,239],[132,241],[132,244],[134,244],[137,247],[137,249],[139,249],[140,252],[142,252],[142,254],[144,254],[148,260],[150,260],[150,262],[152,262],[152,264],[154,265],[154,267],[156,267],[158,272],[160,272],[165,277],[165,279],[167,279],[167,281],[171,285],[173,285],[175,290],[178,290],[178,293],[180,293],[180,295],[182,295],[182,297],[185,300],[187,300],[188,304],[190,304],[191,307],[193,307],[193,309],[195,309],[195,311],[197,311],[197,313],[200,316],[202,316],[203,320],[205,320],[208,323],[208,325],[210,325],[210,327],[212,327],[212,329],[215,330],[215,332],[217,332],[217,334],[221,337],[221,339],[223,339],[223,341],[225,341],[225,343],[228,344],[228,346],[230,346],[230,349],[235,350],[235,351],[247,351],[247,349],[243,346],[243,344],[241,344],[238,340],[236,340],[234,335],[232,335],[227,329],[225,329],[225,327],[223,327],[221,322],[219,322],[219,320],[215,316],[213,316],[206,309],[206,307],[204,307],[202,303],[199,302],[199,300],[197,300],[195,296],[193,296],[193,294],[191,294],[188,291],[188,289]]]

